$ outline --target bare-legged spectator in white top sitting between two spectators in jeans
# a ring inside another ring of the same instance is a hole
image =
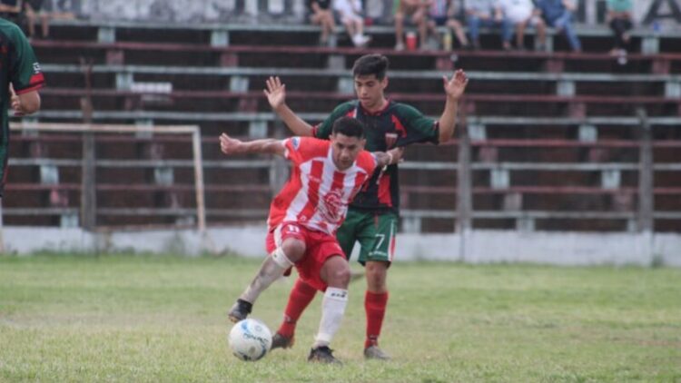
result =
[[[513,29],[516,30],[516,47],[519,50],[525,49],[525,29],[534,26],[537,29],[538,50],[543,51],[547,42],[547,25],[536,12],[532,0],[499,0],[501,13],[504,15],[503,39],[504,49],[511,47],[510,41]]]

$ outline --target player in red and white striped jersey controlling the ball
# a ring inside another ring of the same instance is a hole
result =
[[[267,251],[271,254],[229,311],[245,319],[263,290],[291,267],[312,289],[324,291],[320,328],[311,361],[337,363],[329,348],[348,302],[350,265],[336,240],[348,205],[376,168],[399,161],[399,153],[364,150],[362,123],[350,117],[333,123],[331,140],[291,137],[241,142],[222,134],[225,154],[270,153],[291,161],[289,181],[271,202]]]

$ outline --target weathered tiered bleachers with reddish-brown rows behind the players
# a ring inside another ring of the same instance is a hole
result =
[[[607,46],[599,30],[582,31],[590,49],[582,54],[395,52],[390,28],[369,32],[377,38],[368,49],[342,42],[321,48],[314,46],[318,30],[309,25],[59,22],[54,40],[34,42],[50,86],[42,92],[44,110],[27,121],[80,123],[87,94],[94,123],[198,124],[208,222],[262,220],[281,164],[225,159],[217,135],[287,134],[262,95],[270,75],[287,83],[295,111],[321,121],[352,98],[352,62],[378,52],[391,61],[390,98],[429,115],[442,108],[442,74],[460,67],[471,79],[461,102],[466,129],[457,140],[408,150],[400,171],[403,230],[635,231],[647,224],[681,231],[681,54],[666,43],[681,44],[681,36],[637,31],[640,53],[621,65],[596,51]],[[88,92],[80,57],[94,63]],[[648,118],[649,141],[641,139],[638,113]],[[5,221],[77,224],[81,162],[74,153],[82,150],[81,138],[14,140]],[[183,149],[190,142],[161,136],[119,141],[132,152],[112,149],[114,138],[98,142],[99,223],[191,222],[191,158]],[[133,159],[150,151],[163,156]],[[644,162],[644,152],[655,163]],[[644,169],[654,175],[653,184],[641,181]],[[59,174],[57,182],[51,173]],[[128,177],[131,182],[121,184]],[[642,194],[644,205],[655,201],[652,211],[641,206]]]

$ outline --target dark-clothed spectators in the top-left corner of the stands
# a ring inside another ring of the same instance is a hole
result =
[[[29,38],[49,38],[50,19],[74,18],[60,5],[59,0],[0,0],[0,17],[22,26]],[[40,34],[35,31],[38,23]]]

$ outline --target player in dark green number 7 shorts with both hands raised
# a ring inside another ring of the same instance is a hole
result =
[[[267,82],[265,94],[275,113],[298,136],[327,139],[334,121],[350,116],[364,123],[367,150],[387,151],[413,142],[447,142],[454,133],[459,98],[468,78],[462,70],[451,77],[443,76],[445,105],[438,120],[424,116],[404,103],[390,101],[385,96],[388,86],[388,59],[380,54],[361,56],[352,67],[358,100],[341,103],[322,123],[312,126],[291,111],[285,102],[285,85],[278,77]],[[360,242],[360,263],[365,267],[367,291],[366,339],[364,357],[387,359],[379,348],[380,329],[388,305],[388,268],[394,257],[400,208],[400,188],[397,164],[385,171],[374,172],[350,204],[348,217],[337,236],[341,248],[350,256],[356,241]],[[316,291],[304,280],[296,280],[280,328],[272,338],[272,349],[290,348],[297,320],[314,299]]]

